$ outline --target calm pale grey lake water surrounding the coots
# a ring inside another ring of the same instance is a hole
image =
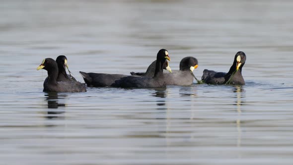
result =
[[[0,5],[1,165],[293,164],[293,1],[5,0]],[[46,93],[47,57],[78,71],[227,72],[243,86]]]

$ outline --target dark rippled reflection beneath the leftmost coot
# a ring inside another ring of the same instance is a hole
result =
[[[66,106],[66,104],[63,103],[58,103],[58,100],[60,98],[58,97],[67,97],[66,94],[63,95],[58,95],[58,92],[45,92],[45,100],[48,101],[48,115],[46,116],[49,119],[60,117],[59,114],[64,113],[65,111],[60,111],[60,110],[53,110],[57,109],[60,106]],[[52,109],[52,110],[50,110]]]

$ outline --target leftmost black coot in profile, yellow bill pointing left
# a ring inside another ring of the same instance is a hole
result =
[[[44,69],[48,72],[48,78],[44,82],[43,91],[46,92],[82,92],[86,91],[85,84],[75,81],[58,82],[58,65],[55,60],[46,58],[37,70]]]

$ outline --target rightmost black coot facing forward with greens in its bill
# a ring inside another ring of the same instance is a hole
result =
[[[210,70],[204,70],[202,80],[208,84],[245,84],[242,77],[242,67],[246,61],[246,55],[243,52],[237,52],[233,65],[228,73],[215,72]]]

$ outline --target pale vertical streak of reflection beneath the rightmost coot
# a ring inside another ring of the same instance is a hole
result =
[[[236,111],[238,114],[237,120],[236,120],[236,127],[238,132],[237,137],[237,147],[241,147],[241,139],[242,139],[242,130],[241,130],[241,105],[243,105],[242,98],[244,98],[245,90],[241,85],[236,85],[233,89],[233,92],[236,94]]]

